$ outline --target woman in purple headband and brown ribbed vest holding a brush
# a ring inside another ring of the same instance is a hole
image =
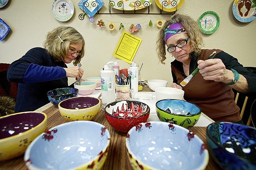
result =
[[[232,88],[242,93],[256,93],[256,74],[222,50],[202,49],[202,33],[197,22],[187,15],[175,14],[160,30],[156,50],[162,64],[166,59],[165,46],[175,58],[171,62],[171,87],[184,90],[184,99],[197,104],[214,121],[242,123]],[[206,60],[214,51],[212,59]],[[199,73],[181,86],[197,67]]]

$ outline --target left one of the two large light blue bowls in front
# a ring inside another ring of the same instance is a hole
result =
[[[94,121],[72,121],[39,135],[28,146],[28,169],[90,169],[106,160],[110,133]]]

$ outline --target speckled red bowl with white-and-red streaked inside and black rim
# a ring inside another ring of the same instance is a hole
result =
[[[147,122],[149,113],[150,108],[147,104],[132,100],[112,102],[105,107],[108,123],[115,130],[125,134],[133,126]]]

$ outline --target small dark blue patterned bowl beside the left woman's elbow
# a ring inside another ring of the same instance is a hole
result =
[[[78,96],[78,89],[66,87],[66,88],[60,88],[60,89],[54,89],[47,92],[47,96],[49,101],[54,104],[55,106],[58,106],[58,104],[71,97],[77,97]]]

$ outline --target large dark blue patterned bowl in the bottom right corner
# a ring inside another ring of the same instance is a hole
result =
[[[256,129],[229,122],[215,122],[206,130],[208,151],[225,170],[256,169]]]

